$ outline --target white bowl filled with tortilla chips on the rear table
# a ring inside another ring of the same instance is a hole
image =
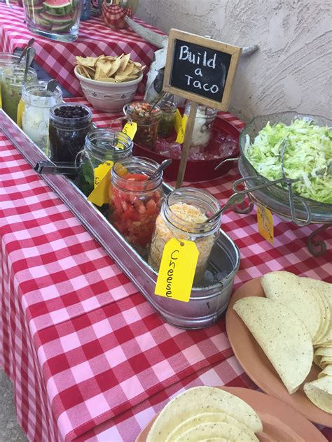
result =
[[[85,98],[95,109],[119,112],[132,101],[143,78],[144,67],[133,62],[130,54],[100,55],[76,57],[74,72]]]

